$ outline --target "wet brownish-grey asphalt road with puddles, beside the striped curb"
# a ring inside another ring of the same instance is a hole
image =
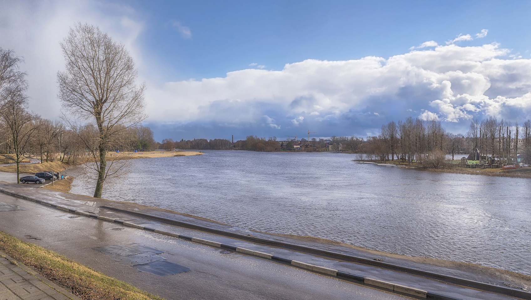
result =
[[[120,226],[75,217],[30,201],[0,195],[28,210],[0,211],[0,230],[66,255],[106,275],[167,299],[410,299],[316,275],[283,264]],[[191,270],[158,276],[92,248],[136,243]]]

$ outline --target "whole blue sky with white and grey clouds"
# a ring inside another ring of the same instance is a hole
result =
[[[439,119],[455,134],[531,118],[525,1],[4,1],[30,110],[58,118],[59,42],[76,22],[123,43],[156,140],[378,135]]]

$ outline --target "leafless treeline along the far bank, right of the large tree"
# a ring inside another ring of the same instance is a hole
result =
[[[515,137],[518,137],[515,139]],[[374,160],[424,161],[433,155],[469,154],[479,152],[498,161],[515,161],[520,153],[531,158],[531,121],[511,124],[489,118],[482,122],[473,120],[466,136],[448,133],[440,120],[407,118],[404,121],[383,125],[378,136],[332,136],[329,139],[289,139],[278,141],[276,137],[247,136],[231,143],[228,139],[193,139],[175,142],[164,139],[162,149],[240,149],[249,151],[333,151],[369,154]]]

